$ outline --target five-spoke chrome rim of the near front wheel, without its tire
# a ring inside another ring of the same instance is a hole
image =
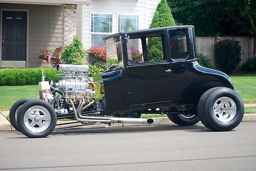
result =
[[[47,130],[51,123],[49,111],[40,105],[29,108],[24,115],[26,128],[33,133],[41,133]]]

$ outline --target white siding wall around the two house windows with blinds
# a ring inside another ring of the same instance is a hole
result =
[[[118,14],[139,15],[139,29],[150,26],[152,17],[160,0],[91,0],[89,6],[82,7],[82,44],[90,48],[91,13],[113,14],[113,33],[118,32]],[[78,34],[79,35],[79,34]],[[103,41],[103,40],[102,40]]]

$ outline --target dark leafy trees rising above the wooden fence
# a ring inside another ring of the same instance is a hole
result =
[[[176,22],[194,25],[197,36],[253,36],[253,0],[167,0]]]

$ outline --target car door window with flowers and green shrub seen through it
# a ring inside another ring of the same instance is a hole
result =
[[[165,60],[161,36],[131,38],[127,42],[129,64]]]

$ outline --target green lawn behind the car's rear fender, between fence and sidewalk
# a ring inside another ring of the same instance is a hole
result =
[[[256,103],[256,74],[231,76],[234,90],[242,97],[244,103]]]

